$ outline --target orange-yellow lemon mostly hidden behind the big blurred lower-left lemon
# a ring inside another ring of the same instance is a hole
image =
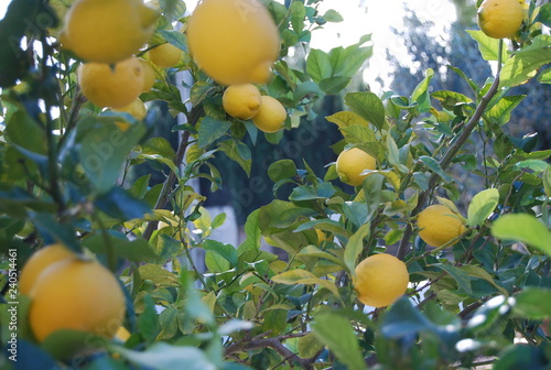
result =
[[[19,291],[21,294],[29,295],[32,287],[39,280],[39,276],[45,269],[67,258],[75,257],[76,254],[67,247],[55,243],[41,248],[34,252],[26,261],[19,275]]]

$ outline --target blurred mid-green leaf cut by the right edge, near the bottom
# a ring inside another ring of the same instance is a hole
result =
[[[515,295],[515,313],[520,317],[530,319],[543,319],[551,317],[551,290],[540,287],[526,287]]]

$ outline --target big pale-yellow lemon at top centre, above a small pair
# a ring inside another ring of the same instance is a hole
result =
[[[222,85],[263,84],[278,58],[278,26],[257,0],[204,0],[187,24],[195,63]]]

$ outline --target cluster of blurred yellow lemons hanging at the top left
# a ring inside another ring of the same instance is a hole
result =
[[[182,51],[169,43],[151,48],[149,61],[136,56],[150,41],[156,19],[156,10],[141,1],[75,1],[65,14],[60,42],[86,62],[77,70],[77,80],[89,101],[140,120],[145,117],[139,96],[155,81],[151,63],[169,68],[182,57]]]

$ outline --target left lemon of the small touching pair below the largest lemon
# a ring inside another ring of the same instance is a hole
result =
[[[251,119],[258,113],[262,102],[260,91],[252,84],[229,86],[222,97],[224,110],[235,118]]]

